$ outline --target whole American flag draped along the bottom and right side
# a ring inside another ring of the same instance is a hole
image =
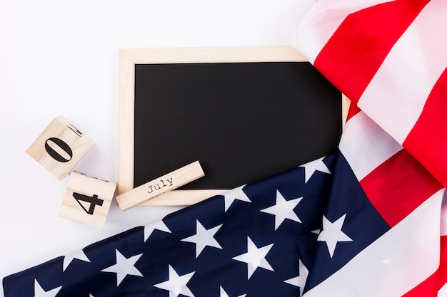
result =
[[[294,45],[353,100],[336,154],[7,276],[5,296],[447,296],[444,3],[316,1]]]

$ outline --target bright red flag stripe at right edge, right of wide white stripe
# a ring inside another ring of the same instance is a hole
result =
[[[447,187],[447,68],[433,86],[421,116],[403,142],[428,171]]]

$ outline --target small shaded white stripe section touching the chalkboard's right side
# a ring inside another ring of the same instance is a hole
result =
[[[358,180],[402,150],[396,140],[363,112],[348,120],[339,148]]]

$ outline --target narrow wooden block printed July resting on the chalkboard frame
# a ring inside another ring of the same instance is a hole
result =
[[[141,184],[141,186],[135,189],[116,196],[116,201],[121,210],[127,210],[141,202],[181,187],[204,175],[204,170],[202,170],[199,161],[192,162],[178,170],[164,174],[159,178],[146,182],[146,184]]]

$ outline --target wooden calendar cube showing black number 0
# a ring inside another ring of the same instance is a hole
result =
[[[59,179],[73,170],[94,142],[66,118],[54,118],[26,150],[34,160]]]

